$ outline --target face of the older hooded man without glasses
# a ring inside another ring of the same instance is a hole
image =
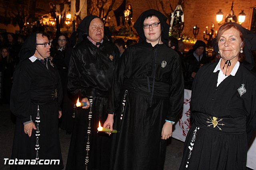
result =
[[[100,18],[94,18],[89,26],[89,36],[94,42],[100,42],[104,37],[104,24]]]

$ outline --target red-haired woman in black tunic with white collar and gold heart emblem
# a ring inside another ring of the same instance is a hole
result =
[[[192,85],[193,120],[180,170],[246,169],[246,131],[256,124],[255,39],[237,23],[220,27],[213,44],[221,59],[201,67]]]

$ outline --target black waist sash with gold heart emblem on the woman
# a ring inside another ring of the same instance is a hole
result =
[[[246,132],[246,116],[214,117],[204,113],[195,113],[195,125],[217,132],[240,134]]]

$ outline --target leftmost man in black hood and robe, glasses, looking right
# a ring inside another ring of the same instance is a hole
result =
[[[43,32],[30,35],[19,53],[10,110],[16,115],[12,159],[36,160],[36,165],[13,165],[13,169],[60,170],[63,168],[58,137],[62,86],[55,65],[48,59],[50,45]],[[55,165],[40,160],[58,160]]]

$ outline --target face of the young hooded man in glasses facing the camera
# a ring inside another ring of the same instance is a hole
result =
[[[151,25],[159,23],[159,19],[155,16],[144,20],[143,25]],[[161,24],[158,24],[157,27],[149,26],[149,28],[143,28],[144,35],[146,37],[146,42],[151,43],[152,45],[158,43],[161,39]]]

